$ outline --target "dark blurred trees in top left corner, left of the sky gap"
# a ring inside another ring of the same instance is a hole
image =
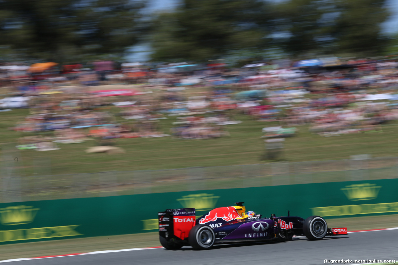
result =
[[[130,0],[0,0],[0,44],[59,62],[122,56],[139,40],[144,6]]]

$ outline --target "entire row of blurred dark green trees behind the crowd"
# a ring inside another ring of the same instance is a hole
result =
[[[152,60],[164,62],[258,59],[269,51],[373,57],[388,48],[386,0],[179,0],[156,15],[144,12],[148,1],[0,0],[0,56],[121,58],[142,40]]]

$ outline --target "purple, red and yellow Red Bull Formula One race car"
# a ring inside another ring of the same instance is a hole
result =
[[[297,216],[262,218],[261,214],[249,215],[244,202],[236,206],[220,207],[197,218],[195,208],[167,209],[158,212],[159,240],[166,249],[192,246],[209,249],[214,244],[240,242],[290,241],[293,236],[306,236],[309,240],[321,240],[325,236],[347,235],[347,228],[328,228],[324,218]]]

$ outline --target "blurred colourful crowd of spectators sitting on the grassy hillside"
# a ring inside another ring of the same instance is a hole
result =
[[[394,60],[316,67],[286,62],[241,68],[122,64],[119,71],[105,61],[93,65],[96,68],[74,68],[73,74],[70,69],[64,75],[43,74],[35,82],[15,75],[7,81],[3,74],[3,88],[12,94],[2,99],[3,110],[12,99],[26,101],[19,107],[29,107],[29,115],[13,129],[53,132],[51,137],[23,137],[19,148],[89,139],[109,144],[115,138],[219,138],[230,136],[227,125],[241,122],[235,120],[238,113],[265,126],[269,121],[285,128],[308,125],[310,132],[322,136],[381,132],[382,123],[398,119]],[[100,85],[107,90],[97,90]],[[176,119],[165,131],[162,120],[172,117]]]

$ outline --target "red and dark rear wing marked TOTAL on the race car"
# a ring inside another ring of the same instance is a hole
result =
[[[166,209],[158,212],[159,236],[185,240],[195,225],[195,208]]]

